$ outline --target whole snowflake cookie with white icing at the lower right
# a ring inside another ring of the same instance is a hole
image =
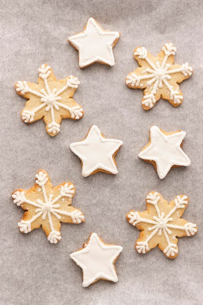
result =
[[[146,198],[147,210],[137,212],[131,210],[127,214],[128,222],[141,230],[136,241],[138,253],[146,253],[158,246],[166,257],[178,255],[178,237],[192,236],[197,233],[197,226],[181,218],[189,198],[185,195],[176,196],[168,203],[160,193],[150,192]]]

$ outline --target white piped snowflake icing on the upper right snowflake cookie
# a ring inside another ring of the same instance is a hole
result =
[[[163,87],[163,84],[170,92],[170,99],[173,100],[174,104],[180,104],[183,96],[181,95],[179,88],[173,89],[173,87],[169,84],[168,80],[171,79],[171,74],[181,72],[184,76],[192,75],[192,67],[186,62],[181,66],[181,68],[168,70],[171,64],[167,63],[167,59],[170,55],[174,55],[176,52],[176,47],[173,46],[172,43],[166,43],[162,50],[165,53],[165,57],[163,59],[162,64],[159,61],[154,64],[148,58],[148,50],[144,47],[137,48],[134,55],[138,55],[138,58],[144,59],[148,62],[149,68],[147,68],[143,73],[142,76],[137,76],[136,74],[132,73],[131,75],[127,76],[126,84],[131,86],[138,86],[142,79],[148,79],[148,86],[152,86],[152,90],[150,94],[144,95],[144,101],[142,102],[143,105],[146,107],[152,108],[156,103],[155,94],[159,90],[159,88]]]

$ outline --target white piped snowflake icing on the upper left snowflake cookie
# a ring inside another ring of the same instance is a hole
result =
[[[50,66],[46,66],[45,64],[41,65],[38,69],[39,71],[39,77],[43,79],[45,89],[41,89],[40,92],[37,92],[36,90],[32,90],[26,81],[18,81],[17,82],[17,92],[20,92],[21,94],[31,93],[33,95],[36,95],[40,97],[41,105],[36,107],[34,110],[24,110],[22,113],[22,119],[25,123],[31,123],[34,121],[35,114],[42,108],[45,107],[45,110],[48,112],[51,112],[51,118],[52,122],[48,125],[48,132],[49,133],[59,133],[60,131],[60,125],[55,122],[55,114],[54,109],[58,111],[61,108],[64,108],[68,110],[71,114],[71,117],[74,119],[79,119],[83,115],[83,109],[76,105],[74,107],[69,107],[67,105],[64,105],[60,103],[61,100],[61,94],[69,87],[69,88],[78,88],[78,85],[80,84],[77,77],[70,76],[70,78],[67,79],[66,85],[57,91],[57,89],[53,89],[52,91],[49,88],[49,84],[47,81],[47,78],[51,74],[51,68]]]

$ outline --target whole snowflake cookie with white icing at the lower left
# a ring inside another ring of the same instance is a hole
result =
[[[80,224],[85,221],[82,212],[70,206],[75,187],[71,182],[64,182],[53,188],[48,173],[43,170],[37,172],[35,182],[28,191],[12,193],[14,203],[26,210],[18,228],[28,233],[42,226],[50,243],[56,244],[61,239],[60,222]]]

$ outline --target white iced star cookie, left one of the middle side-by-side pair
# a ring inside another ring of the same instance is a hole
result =
[[[103,138],[98,127],[93,125],[86,139],[72,143],[70,148],[82,160],[82,175],[87,177],[98,169],[118,173],[112,156],[122,144],[120,140]]]

